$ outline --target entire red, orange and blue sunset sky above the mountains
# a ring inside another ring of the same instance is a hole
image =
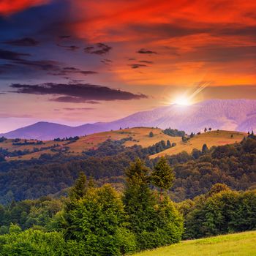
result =
[[[255,0],[0,0],[0,132],[256,98]]]

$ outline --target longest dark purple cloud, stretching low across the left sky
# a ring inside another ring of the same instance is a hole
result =
[[[10,86],[19,94],[59,95],[51,100],[58,102],[86,102],[94,100],[129,100],[147,98],[144,94],[132,94],[128,91],[111,89],[89,83],[43,83],[37,85],[14,83]]]

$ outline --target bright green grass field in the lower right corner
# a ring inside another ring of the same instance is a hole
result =
[[[133,256],[255,256],[256,231],[215,236],[140,252]]]

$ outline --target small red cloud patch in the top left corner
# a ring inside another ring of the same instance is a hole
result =
[[[0,15],[11,15],[37,5],[47,4],[50,0],[1,0]]]

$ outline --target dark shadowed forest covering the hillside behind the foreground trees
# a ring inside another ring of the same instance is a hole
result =
[[[12,200],[36,199],[66,193],[78,174],[93,177],[97,184],[110,183],[119,191],[124,189],[124,170],[129,162],[143,159],[153,167],[157,159],[148,156],[167,148],[165,141],[154,146],[125,147],[124,140],[107,140],[99,148],[84,152],[81,156],[42,154],[39,159],[5,161],[0,157],[0,203]],[[171,144],[171,137],[170,137]],[[251,189],[256,182],[256,140],[254,135],[241,143],[217,146],[192,154],[181,152],[167,157],[173,167],[176,180],[170,197],[179,202],[204,194],[216,183],[227,184],[231,189]]]

